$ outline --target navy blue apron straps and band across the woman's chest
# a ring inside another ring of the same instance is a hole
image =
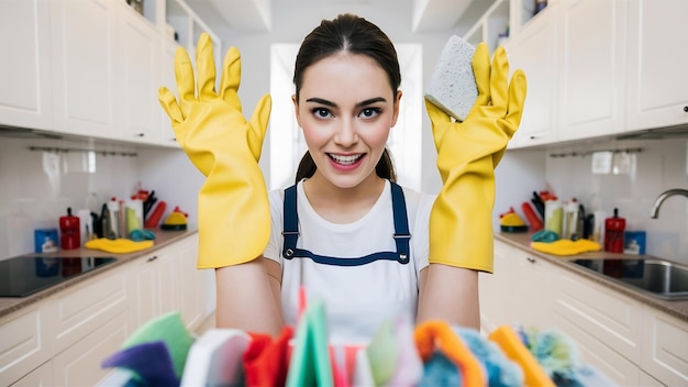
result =
[[[391,187],[392,212],[395,217],[395,243],[396,252],[379,252],[368,254],[358,258],[337,258],[333,256],[323,256],[313,254],[308,250],[297,248],[297,240],[299,239],[299,214],[297,212],[297,186],[293,185],[285,189],[284,203],[284,231],[285,246],[282,247],[282,257],[285,259],[310,258],[318,264],[336,265],[336,266],[360,266],[375,261],[397,261],[402,265],[409,263],[409,220],[407,217],[406,199],[401,187],[389,181]]]

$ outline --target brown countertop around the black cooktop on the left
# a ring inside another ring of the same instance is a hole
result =
[[[46,297],[49,297],[60,290],[73,287],[86,279],[89,279],[93,276],[99,276],[109,270],[114,269],[120,265],[124,265],[127,262],[137,259],[142,256],[149,255],[151,253],[155,253],[156,251],[175,243],[179,240],[185,239],[191,234],[195,234],[197,230],[186,230],[186,231],[155,231],[155,244],[153,247],[142,250],[135,253],[129,254],[112,254],[100,250],[90,250],[90,248],[79,248],[79,250],[67,250],[59,251],[56,253],[44,253],[44,254],[25,254],[27,257],[115,257],[116,261],[103,265],[102,267],[98,267],[91,272],[84,273],[79,276],[76,276],[74,279],[64,281],[62,284],[57,284],[47,289],[41,290],[33,295],[26,297],[0,297],[0,318],[3,316],[10,314],[14,311],[18,311],[21,308],[30,306],[34,302],[37,302]],[[23,256],[23,255],[22,255]]]

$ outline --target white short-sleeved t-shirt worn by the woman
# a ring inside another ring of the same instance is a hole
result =
[[[264,255],[282,266],[281,305],[287,324],[296,327],[301,281],[308,299],[324,302],[330,342],[367,343],[384,321],[399,313],[408,313],[414,321],[419,273],[428,266],[428,226],[434,196],[408,188],[403,188],[403,195],[411,233],[409,263],[382,259],[362,266],[334,266],[282,257],[284,190],[269,192],[271,235]],[[297,186],[297,209],[298,248],[339,258],[397,250],[389,181],[368,213],[353,223],[336,224],[321,218],[303,194],[302,181]]]

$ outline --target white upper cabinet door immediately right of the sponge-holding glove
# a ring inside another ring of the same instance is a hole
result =
[[[556,140],[558,110],[557,3],[529,21],[506,46],[511,73],[521,68],[528,92],[521,125],[510,147],[552,143]]]

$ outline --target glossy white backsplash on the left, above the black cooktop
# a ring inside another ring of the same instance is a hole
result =
[[[48,151],[32,151],[31,146]],[[96,150],[90,162],[88,153],[76,151],[84,148]],[[145,165],[148,152],[118,144],[93,145],[88,141],[1,137],[0,259],[32,253],[33,231],[59,230],[59,217],[67,213],[67,208],[71,208],[75,215],[79,209],[100,214],[103,202],[113,197],[129,198],[140,187],[160,188],[142,180],[142,176],[154,175]],[[180,153],[159,151],[160,158]],[[181,158],[186,159],[184,153]],[[160,173],[174,174],[174,168]],[[192,191],[196,189],[191,187]],[[156,191],[156,197],[165,199],[164,191]],[[170,210],[168,208],[166,213]]]

